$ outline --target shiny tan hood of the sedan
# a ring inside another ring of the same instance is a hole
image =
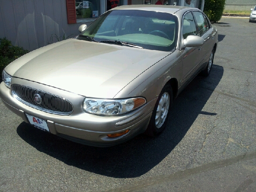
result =
[[[69,39],[18,58],[7,66],[6,72],[82,96],[113,98],[168,54]]]

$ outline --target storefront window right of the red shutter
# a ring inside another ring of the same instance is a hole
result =
[[[100,0],[76,0],[76,19],[97,18],[100,16]]]

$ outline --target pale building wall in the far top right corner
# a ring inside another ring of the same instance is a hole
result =
[[[250,11],[256,5],[256,0],[226,0],[225,10]]]

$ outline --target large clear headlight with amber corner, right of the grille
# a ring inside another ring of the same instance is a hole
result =
[[[96,99],[85,98],[83,109],[85,112],[99,115],[118,115],[130,112],[146,103],[144,98],[128,99]]]

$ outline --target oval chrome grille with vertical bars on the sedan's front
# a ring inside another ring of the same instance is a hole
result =
[[[12,85],[11,90],[17,100],[38,110],[58,115],[69,115],[73,112],[73,106],[68,100],[54,94],[17,84]],[[34,94],[41,96],[41,104],[36,103]]]

